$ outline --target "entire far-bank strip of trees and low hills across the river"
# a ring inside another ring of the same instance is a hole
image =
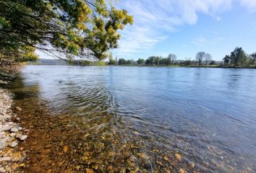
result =
[[[150,56],[147,59],[139,58],[137,61],[124,58],[113,58],[112,53],[108,54],[108,61],[64,61],[39,59],[30,64],[35,65],[74,65],[74,66],[202,66],[202,67],[230,67],[230,68],[256,68],[256,53],[244,53],[242,48],[235,48],[234,51],[223,58],[222,61],[214,61],[210,53],[198,52],[195,59],[177,60],[177,56],[170,53],[166,58],[161,56]]]

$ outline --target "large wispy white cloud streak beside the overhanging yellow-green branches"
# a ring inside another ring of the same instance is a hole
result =
[[[252,1],[252,0],[244,0]],[[121,32],[119,56],[148,51],[165,40],[170,32],[179,32],[181,25],[195,25],[198,14],[208,14],[216,20],[220,12],[231,8],[231,0],[129,0],[119,7],[132,14],[135,23]],[[195,40],[199,42],[200,40]],[[202,41],[202,40],[201,40]]]

